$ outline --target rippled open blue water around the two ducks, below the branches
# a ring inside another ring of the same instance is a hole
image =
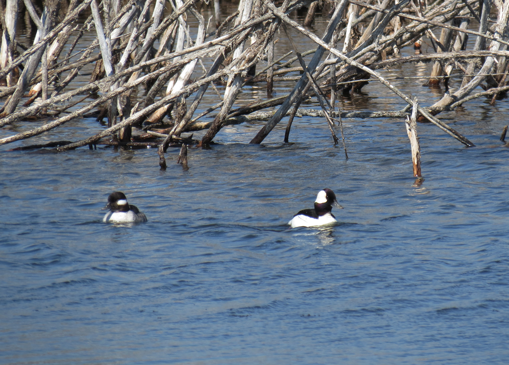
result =
[[[227,127],[188,171],[178,148],[160,171],[155,149],[4,146],[2,363],[505,363],[509,150],[490,110],[442,115],[473,148],[419,124],[420,186],[400,120],[345,120],[348,160],[323,120],[291,144]],[[340,224],[289,229],[325,187]],[[103,224],[114,190],[149,222]]]

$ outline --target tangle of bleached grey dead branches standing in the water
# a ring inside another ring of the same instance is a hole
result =
[[[60,18],[58,0],[43,2],[41,16],[31,0],[23,2],[24,7],[18,6],[17,0],[0,4],[0,84],[7,85],[0,90],[0,99],[4,101],[0,128],[42,115],[50,116],[50,120],[42,127],[15,135],[0,134],[0,145],[63,128],[68,121],[96,111],[100,118],[108,119],[108,128],[101,133],[82,141],[65,145],[55,142],[43,147],[68,150],[98,143],[104,137],[110,137],[110,143],[134,146],[132,143],[142,142],[133,140],[131,128],[145,123],[144,129],[150,131],[162,124],[165,133],[153,136],[159,138],[156,143],[162,167],[168,146],[172,142],[184,143],[180,139],[183,132],[207,129],[200,142],[206,146],[224,125],[267,120],[251,140],[261,143],[288,115],[285,141],[289,141],[294,117],[313,115],[325,118],[336,143],[336,122],[342,131],[343,118],[408,116],[406,109],[385,113],[335,110],[338,98],[349,97],[375,80],[388,93],[413,107],[418,120],[428,120],[461,143],[473,146],[440,121],[437,114],[479,97],[490,98],[493,105],[509,90],[506,62],[509,0],[444,0],[428,7],[410,0],[385,0],[380,7],[370,2],[337,0],[321,38],[303,25],[312,24],[319,13],[317,8],[327,2],[285,0],[276,6],[277,3],[268,0],[243,0],[235,13],[220,14],[217,0],[207,3],[176,0],[169,3],[172,8],[166,13],[164,5],[168,3],[162,0],[130,0],[123,7],[119,0],[81,3],[71,0]],[[198,9],[203,6],[214,8],[213,20],[202,17]],[[289,16],[298,9],[307,9],[303,25]],[[27,49],[17,47],[16,41],[15,31],[19,28],[16,20],[24,16],[21,11],[29,14],[38,29],[34,44]],[[91,15],[80,20],[83,12]],[[497,17],[492,26],[490,14]],[[198,24],[197,29],[191,28],[191,19]],[[299,50],[294,44],[293,52],[275,59],[278,42],[289,39],[295,43],[290,37],[281,37],[284,35],[281,27],[294,28],[315,42],[316,47]],[[440,38],[433,33],[436,29],[441,31]],[[83,44],[86,34],[92,40],[90,44]],[[473,49],[465,48],[468,36],[476,37]],[[402,48],[426,38],[436,48],[435,53],[399,56]],[[80,50],[76,52],[78,44]],[[159,45],[157,49],[155,44]],[[67,54],[62,54],[64,49],[68,49]],[[303,56],[308,54],[313,57],[306,65]],[[205,58],[214,62],[201,76],[191,80],[191,74],[197,75],[196,65]],[[419,106],[376,71],[408,62],[435,63],[427,78],[430,86],[445,86],[446,93],[440,101]],[[74,86],[76,76],[86,66],[95,66],[94,78],[88,85]],[[462,78],[461,87],[449,91],[448,80],[453,77]],[[298,82],[289,95],[232,110],[246,83],[265,83],[270,97],[274,84],[280,80]],[[226,83],[223,95],[215,96],[217,82]],[[142,85],[146,86],[145,95],[138,94]],[[479,85],[484,92],[474,93]],[[24,100],[30,87],[30,98]],[[195,115],[206,93],[212,93],[217,104]],[[326,96],[329,93],[330,98]],[[99,97],[87,99],[97,94]],[[192,99],[188,99],[191,95]],[[321,110],[299,108],[306,100],[315,98]],[[74,105],[78,109],[68,113]],[[275,112],[264,111],[274,107]],[[214,111],[217,112],[213,120],[200,120]],[[59,117],[62,113],[67,114]],[[415,134],[412,131],[409,136]],[[346,154],[346,145],[344,148]]]

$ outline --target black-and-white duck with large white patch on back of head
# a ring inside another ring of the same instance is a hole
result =
[[[337,203],[334,192],[330,189],[324,189],[317,195],[315,209],[299,211],[288,224],[291,225],[292,228],[295,228],[324,226],[326,224],[336,223],[337,221],[331,213],[332,205],[343,209],[343,207]]]

